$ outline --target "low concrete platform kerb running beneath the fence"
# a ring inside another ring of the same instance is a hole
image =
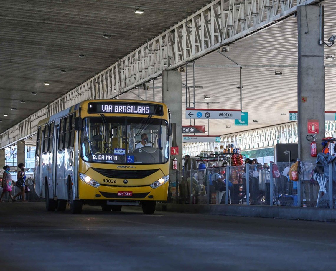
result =
[[[157,203],[156,211],[336,222],[335,209]]]

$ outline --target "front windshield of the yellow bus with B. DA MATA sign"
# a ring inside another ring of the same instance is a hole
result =
[[[162,119],[88,117],[83,120],[84,161],[117,164],[162,164],[169,158],[168,123]]]

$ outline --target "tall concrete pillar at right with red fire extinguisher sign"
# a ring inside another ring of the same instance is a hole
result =
[[[308,120],[319,121],[317,152],[322,151],[321,139],[324,137],[324,45],[319,44],[320,18],[320,6],[298,7],[298,156],[301,161],[314,159],[310,156],[310,142],[306,140]]]

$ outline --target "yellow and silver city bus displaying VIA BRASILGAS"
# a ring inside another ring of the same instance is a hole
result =
[[[81,213],[167,200],[169,112],[164,103],[87,100],[39,122],[35,190],[47,211]]]

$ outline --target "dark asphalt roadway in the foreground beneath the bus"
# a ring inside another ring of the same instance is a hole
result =
[[[336,223],[0,204],[0,270],[336,270]]]

